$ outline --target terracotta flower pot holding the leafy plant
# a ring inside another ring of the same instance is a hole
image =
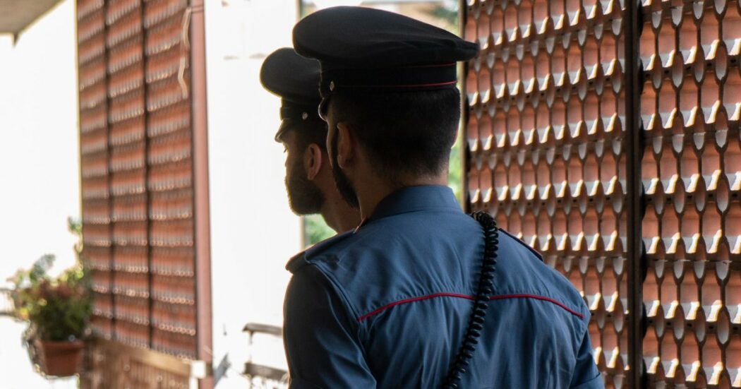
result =
[[[47,376],[74,376],[80,371],[83,342],[50,342],[36,339],[36,358]]]

